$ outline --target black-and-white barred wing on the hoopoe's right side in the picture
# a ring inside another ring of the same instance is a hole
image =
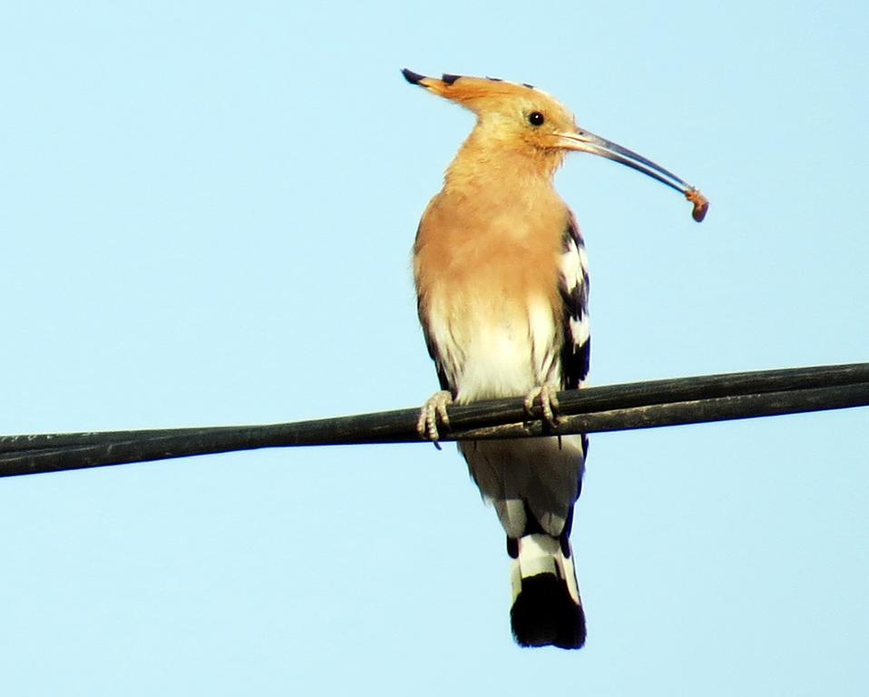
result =
[[[589,373],[589,271],[585,242],[572,214],[561,252],[561,300],[563,344],[561,372],[565,389],[576,389]]]

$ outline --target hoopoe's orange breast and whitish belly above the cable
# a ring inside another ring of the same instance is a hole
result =
[[[541,222],[508,211],[457,219],[430,207],[421,223],[420,314],[459,402],[523,395],[558,360],[564,227]]]

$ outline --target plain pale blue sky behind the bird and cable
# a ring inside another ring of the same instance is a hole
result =
[[[695,183],[575,155],[594,384],[869,358],[854,3],[0,4],[0,433],[420,404],[418,217],[536,84]],[[869,692],[869,412],[593,437],[579,653],[521,651],[453,447],[0,481],[8,695]]]

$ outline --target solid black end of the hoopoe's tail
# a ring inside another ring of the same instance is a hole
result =
[[[522,592],[510,610],[513,637],[520,646],[580,649],[585,643],[585,614],[573,602],[567,584],[554,574],[522,579]]]

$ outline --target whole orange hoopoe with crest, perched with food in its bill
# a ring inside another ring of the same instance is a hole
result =
[[[531,85],[402,72],[476,114],[416,233],[417,309],[441,386],[421,410],[420,435],[437,443],[450,404],[516,396],[529,415],[539,404],[555,428],[556,393],[581,387],[591,347],[585,245],[552,184],[565,154],[591,152],[649,174],[693,201],[695,219],[708,204],[657,164],[578,128]],[[587,438],[458,447],[507,535],[516,642],[580,648],[585,615],[570,535]]]

